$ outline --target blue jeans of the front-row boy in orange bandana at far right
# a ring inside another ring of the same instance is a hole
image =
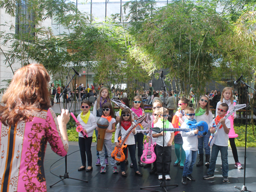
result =
[[[226,147],[217,146],[215,144],[211,148],[210,166],[207,174],[214,175],[216,160],[217,160],[219,151],[221,152],[222,176],[227,177],[228,176],[227,146]]]

